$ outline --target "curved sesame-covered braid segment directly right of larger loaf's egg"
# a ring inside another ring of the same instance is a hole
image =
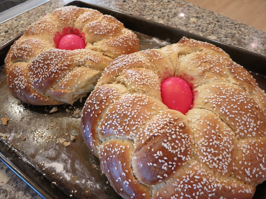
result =
[[[265,136],[265,117],[261,109],[252,96],[239,86],[215,82],[203,84],[194,91],[194,107],[207,109],[218,115],[234,131],[236,137]]]

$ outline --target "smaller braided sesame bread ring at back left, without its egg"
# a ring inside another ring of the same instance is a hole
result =
[[[58,49],[67,34],[80,36],[85,48]],[[114,58],[138,50],[135,33],[114,17],[66,6],[30,25],[9,50],[5,71],[11,93],[22,102],[72,104],[93,90]]]

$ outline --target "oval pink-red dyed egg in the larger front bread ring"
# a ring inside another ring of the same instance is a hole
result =
[[[161,97],[169,109],[183,114],[191,109],[193,103],[193,94],[189,84],[179,77],[170,77],[161,83]]]

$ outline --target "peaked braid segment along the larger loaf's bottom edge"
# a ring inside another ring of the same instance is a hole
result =
[[[152,199],[198,198],[198,199],[244,199],[251,198],[255,185],[234,178],[213,175],[195,160],[190,160],[183,169],[161,186],[154,187]]]

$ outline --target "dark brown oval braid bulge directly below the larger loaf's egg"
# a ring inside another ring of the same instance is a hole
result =
[[[171,179],[190,159],[192,139],[185,115],[160,111],[136,135],[132,160],[136,178],[148,186]]]

